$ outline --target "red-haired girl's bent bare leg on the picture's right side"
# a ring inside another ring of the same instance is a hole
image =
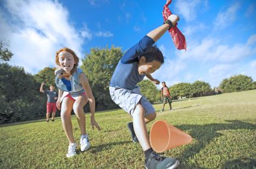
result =
[[[88,97],[86,95],[79,95],[77,100],[74,102],[73,110],[77,117],[77,122],[80,127],[81,135],[86,134],[85,127],[85,112],[83,111],[83,106],[88,102]]]

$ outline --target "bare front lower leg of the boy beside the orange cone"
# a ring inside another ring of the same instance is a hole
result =
[[[143,151],[151,148],[145,124],[144,110],[141,104],[137,104],[133,111],[133,128]]]

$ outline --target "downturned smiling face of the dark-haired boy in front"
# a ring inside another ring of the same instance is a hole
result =
[[[139,75],[152,74],[157,69],[159,69],[161,65],[162,63],[158,62],[157,60],[153,60],[152,62],[146,62],[145,57],[142,56],[139,59],[139,66],[138,66]]]

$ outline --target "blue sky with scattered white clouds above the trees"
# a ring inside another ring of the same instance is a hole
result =
[[[11,65],[36,74],[54,67],[55,52],[70,47],[80,58],[91,47],[129,49],[163,23],[166,1],[21,1],[0,2],[0,39],[10,44]],[[166,33],[158,40],[165,63],[152,76],[167,85],[209,82],[244,74],[256,81],[256,2],[173,0],[187,51],[177,50]]]

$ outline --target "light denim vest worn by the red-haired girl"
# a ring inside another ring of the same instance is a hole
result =
[[[59,76],[63,72],[63,69],[57,68],[55,71],[55,84],[58,89],[62,91],[67,91],[70,94],[80,94],[85,93],[85,90],[83,89],[83,85],[80,83],[79,75],[83,72],[82,69],[76,68],[76,71],[74,71],[73,75],[70,76],[70,82],[71,82],[71,91],[67,90],[67,86],[61,81]]]

